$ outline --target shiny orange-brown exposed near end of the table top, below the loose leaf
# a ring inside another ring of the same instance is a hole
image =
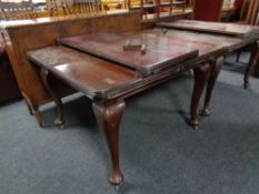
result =
[[[28,58],[90,99],[109,98],[140,80],[135,71],[62,45],[29,51]]]

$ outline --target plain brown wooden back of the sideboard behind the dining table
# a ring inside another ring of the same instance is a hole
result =
[[[116,21],[116,22],[114,22]],[[38,70],[27,59],[27,51],[54,45],[56,40],[94,31],[126,32],[141,29],[139,12],[94,16],[60,17],[3,23],[2,35],[7,43],[18,84],[31,104],[41,105],[50,101]]]

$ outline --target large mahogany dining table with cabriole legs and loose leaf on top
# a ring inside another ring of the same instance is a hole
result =
[[[118,186],[123,181],[119,130],[127,98],[193,70],[190,123],[193,126],[200,124],[197,109],[206,86],[203,113],[210,114],[210,98],[223,55],[241,40],[226,37],[222,43],[218,37],[196,40],[190,34],[186,32],[183,35],[177,30],[166,33],[163,29],[132,33],[94,32],[62,38],[57,40],[57,45],[27,52],[28,59],[40,68],[41,79],[56,102],[56,124],[64,122],[63,108],[50,78],[62,80],[92,100],[92,110],[110,150],[109,182],[112,185]]]

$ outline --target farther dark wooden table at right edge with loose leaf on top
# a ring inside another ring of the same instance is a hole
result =
[[[220,22],[206,22],[195,20],[176,20],[172,22],[160,22],[158,27],[178,30],[189,30],[195,32],[205,32],[221,37],[232,37],[242,41],[239,47],[229,49],[229,52],[233,50],[247,48],[251,52],[250,60],[248,62],[245,76],[243,86],[249,86],[249,74],[253,65],[257,63],[258,58],[258,39],[259,39],[259,27],[237,24],[237,23],[220,23]]]

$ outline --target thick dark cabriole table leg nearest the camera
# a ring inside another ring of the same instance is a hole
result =
[[[120,171],[119,160],[119,129],[124,112],[124,101],[117,102],[93,102],[92,110],[96,114],[99,126],[103,130],[110,150],[112,171],[109,182],[112,185],[120,185],[123,181]]]

